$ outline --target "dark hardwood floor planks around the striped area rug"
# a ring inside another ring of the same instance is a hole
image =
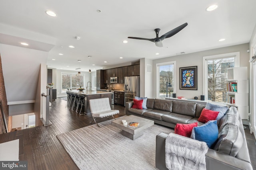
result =
[[[57,98],[50,107],[50,126],[39,126],[0,135],[0,143],[20,139],[19,159],[28,161],[29,170],[76,170],[78,167],[58,141],[56,135],[90,124],[92,116],[78,115],[65,107],[66,101]],[[125,115],[125,107],[112,105]],[[107,118],[99,119],[106,121]],[[250,159],[256,169],[256,145],[249,128],[245,129]]]

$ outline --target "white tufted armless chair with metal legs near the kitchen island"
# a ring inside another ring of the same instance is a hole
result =
[[[99,99],[91,99],[89,100],[90,103],[90,109],[92,112],[93,121],[98,125],[96,122],[97,117],[113,117],[116,119],[113,115],[118,114],[119,110],[111,110],[109,98],[99,98]],[[92,123],[91,121],[90,123]],[[100,127],[98,125],[98,127]]]

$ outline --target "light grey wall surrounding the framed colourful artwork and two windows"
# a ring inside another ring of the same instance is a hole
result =
[[[152,69],[152,89],[153,89],[153,98],[156,98],[156,64],[157,63],[164,63],[170,61],[176,61],[176,94],[177,96],[184,96],[186,98],[194,98],[194,96],[200,97],[203,94],[203,82],[202,82],[202,58],[204,56],[210,55],[218,55],[224,53],[232,53],[232,52],[240,52],[240,66],[247,66],[249,72],[249,53],[247,50],[249,49],[249,44],[241,44],[241,45],[234,45],[230,47],[223,47],[218,49],[200,51],[196,53],[184,54],[184,55],[177,55],[173,57],[166,57],[162,59],[153,60],[153,69]],[[186,66],[197,66],[197,83],[198,83],[198,90],[180,90],[180,67]],[[248,80],[250,76],[248,75]],[[250,92],[249,92],[250,96]]]

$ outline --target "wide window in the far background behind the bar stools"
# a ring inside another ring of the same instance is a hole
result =
[[[67,89],[77,89],[84,87],[85,75],[75,73],[61,73],[61,93],[66,93]]]

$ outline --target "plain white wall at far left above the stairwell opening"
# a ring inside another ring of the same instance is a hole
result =
[[[40,67],[48,52],[0,44],[0,53],[9,115],[34,112]]]

